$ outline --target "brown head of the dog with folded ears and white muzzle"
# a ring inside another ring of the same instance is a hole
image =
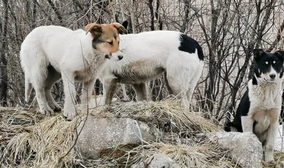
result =
[[[102,52],[110,60],[121,60],[122,56],[114,58],[112,53],[119,51],[119,34],[126,33],[124,26],[119,23],[97,24],[90,23],[85,27],[86,33],[92,34],[92,46]]]

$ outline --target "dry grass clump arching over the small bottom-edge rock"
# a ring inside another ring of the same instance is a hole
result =
[[[190,142],[187,145],[171,144],[171,142],[153,142],[138,147],[124,145],[104,152],[102,159],[114,159],[116,165],[129,167],[141,162],[147,164],[148,159],[158,153],[165,153],[182,167],[239,167],[235,162],[224,157],[226,151],[219,150],[206,141]]]

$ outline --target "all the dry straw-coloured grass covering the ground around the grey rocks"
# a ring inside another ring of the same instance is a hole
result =
[[[0,108],[0,164],[2,167],[130,167],[155,153],[165,153],[184,167],[239,167],[197,133],[222,130],[218,125],[180,108],[178,101],[114,103],[91,109],[97,118],[133,118],[164,130],[159,142],[121,145],[101,152],[101,159],[83,159],[77,147],[77,125],[86,117],[78,113],[66,121],[59,113],[45,117],[21,108]],[[72,149],[72,150],[70,150]],[[283,159],[283,153],[277,153]]]

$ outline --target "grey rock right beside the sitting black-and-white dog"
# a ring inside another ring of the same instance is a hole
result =
[[[242,167],[262,167],[262,145],[253,133],[212,132],[206,135],[222,149],[229,150],[229,157],[236,160]]]

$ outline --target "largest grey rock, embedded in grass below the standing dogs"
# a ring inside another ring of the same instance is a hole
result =
[[[82,128],[82,126],[84,127]],[[155,140],[155,130],[147,124],[131,118],[94,118],[88,116],[87,121],[77,128],[80,133],[77,145],[82,156],[99,158],[99,152],[109,147],[125,144],[141,144],[142,141]]]

